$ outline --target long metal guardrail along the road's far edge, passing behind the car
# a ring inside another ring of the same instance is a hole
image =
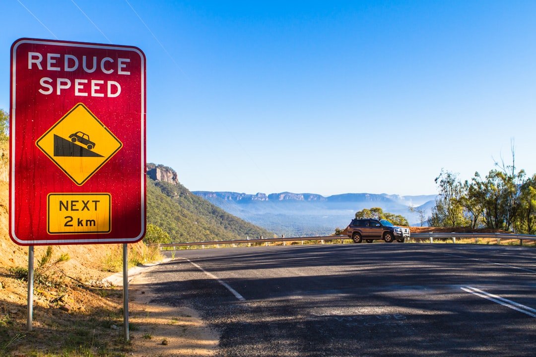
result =
[[[434,239],[453,239],[453,243],[456,243],[457,238],[495,238],[497,242],[501,239],[519,239],[520,245],[523,245],[523,240],[536,240],[536,235],[533,234],[515,234],[515,233],[458,233],[458,232],[428,232],[428,233],[413,233],[410,238],[418,239],[430,239],[430,243]],[[342,239],[343,243],[345,239],[351,239],[348,236],[316,236],[316,237],[281,237],[281,238],[263,238],[263,239],[235,239],[235,240],[218,240],[218,241],[200,241],[200,242],[184,242],[184,243],[170,243],[160,244],[160,248],[168,247],[184,247],[184,246],[214,246],[214,245],[236,245],[236,244],[251,244],[262,243],[268,245],[270,242],[296,242],[296,241],[311,241],[320,240],[322,243],[326,240]]]

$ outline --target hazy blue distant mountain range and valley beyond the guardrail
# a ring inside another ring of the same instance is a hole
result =
[[[371,193],[345,193],[323,196],[314,193],[257,193],[193,191],[230,214],[264,227],[279,236],[315,236],[332,234],[344,228],[364,208],[380,207],[384,211],[408,218],[420,225],[410,207],[426,210],[430,215],[436,195],[401,196]]]

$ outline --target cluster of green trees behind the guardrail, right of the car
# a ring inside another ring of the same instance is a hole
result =
[[[536,233],[536,174],[517,170],[513,148],[512,164],[495,166],[486,177],[475,172],[464,182],[456,173],[441,170],[429,225]]]

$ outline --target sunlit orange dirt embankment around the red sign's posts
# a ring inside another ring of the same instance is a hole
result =
[[[218,336],[196,312],[150,303],[143,274],[130,285],[130,337],[123,339],[122,287],[104,278],[122,245],[35,247],[33,331],[26,329],[28,248],[9,238],[6,143],[0,145],[0,357],[4,356],[205,356]],[[143,242],[130,246],[145,252]],[[62,259],[59,259],[62,257]],[[68,260],[63,261],[68,257]],[[44,259],[44,260],[43,260]],[[57,260],[61,262],[55,263]],[[44,262],[40,265],[39,262]]]

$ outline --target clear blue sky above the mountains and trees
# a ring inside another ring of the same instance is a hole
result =
[[[1,0],[20,37],[135,45],[147,161],[203,191],[436,193],[536,172],[536,2]]]

